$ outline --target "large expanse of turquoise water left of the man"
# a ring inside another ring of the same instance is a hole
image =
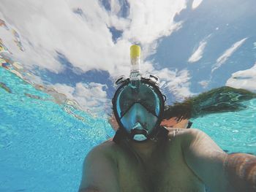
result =
[[[86,153],[113,135],[107,121],[54,103],[5,69],[0,77],[12,91],[0,88],[0,191],[77,190]]]

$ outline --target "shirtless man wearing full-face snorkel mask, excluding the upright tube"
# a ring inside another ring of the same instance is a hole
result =
[[[86,156],[79,192],[256,191],[256,157],[228,155],[187,128],[187,117],[164,120],[165,96],[152,78],[118,81],[118,131]]]

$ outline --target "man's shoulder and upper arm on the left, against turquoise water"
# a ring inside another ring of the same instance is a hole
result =
[[[115,161],[99,145],[86,156],[79,192],[120,191],[117,174]]]

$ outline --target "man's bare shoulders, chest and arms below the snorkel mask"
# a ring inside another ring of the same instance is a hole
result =
[[[227,155],[195,128],[168,130],[167,145],[130,141],[131,151],[107,141],[95,147],[84,162],[80,192],[192,192],[205,191],[205,184],[211,191],[256,191],[254,155]]]

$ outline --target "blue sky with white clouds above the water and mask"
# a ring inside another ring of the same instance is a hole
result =
[[[232,86],[256,91],[254,0],[1,0],[4,58],[83,110],[109,109],[129,47],[157,74],[167,104]],[[104,107],[102,107],[104,106]]]

